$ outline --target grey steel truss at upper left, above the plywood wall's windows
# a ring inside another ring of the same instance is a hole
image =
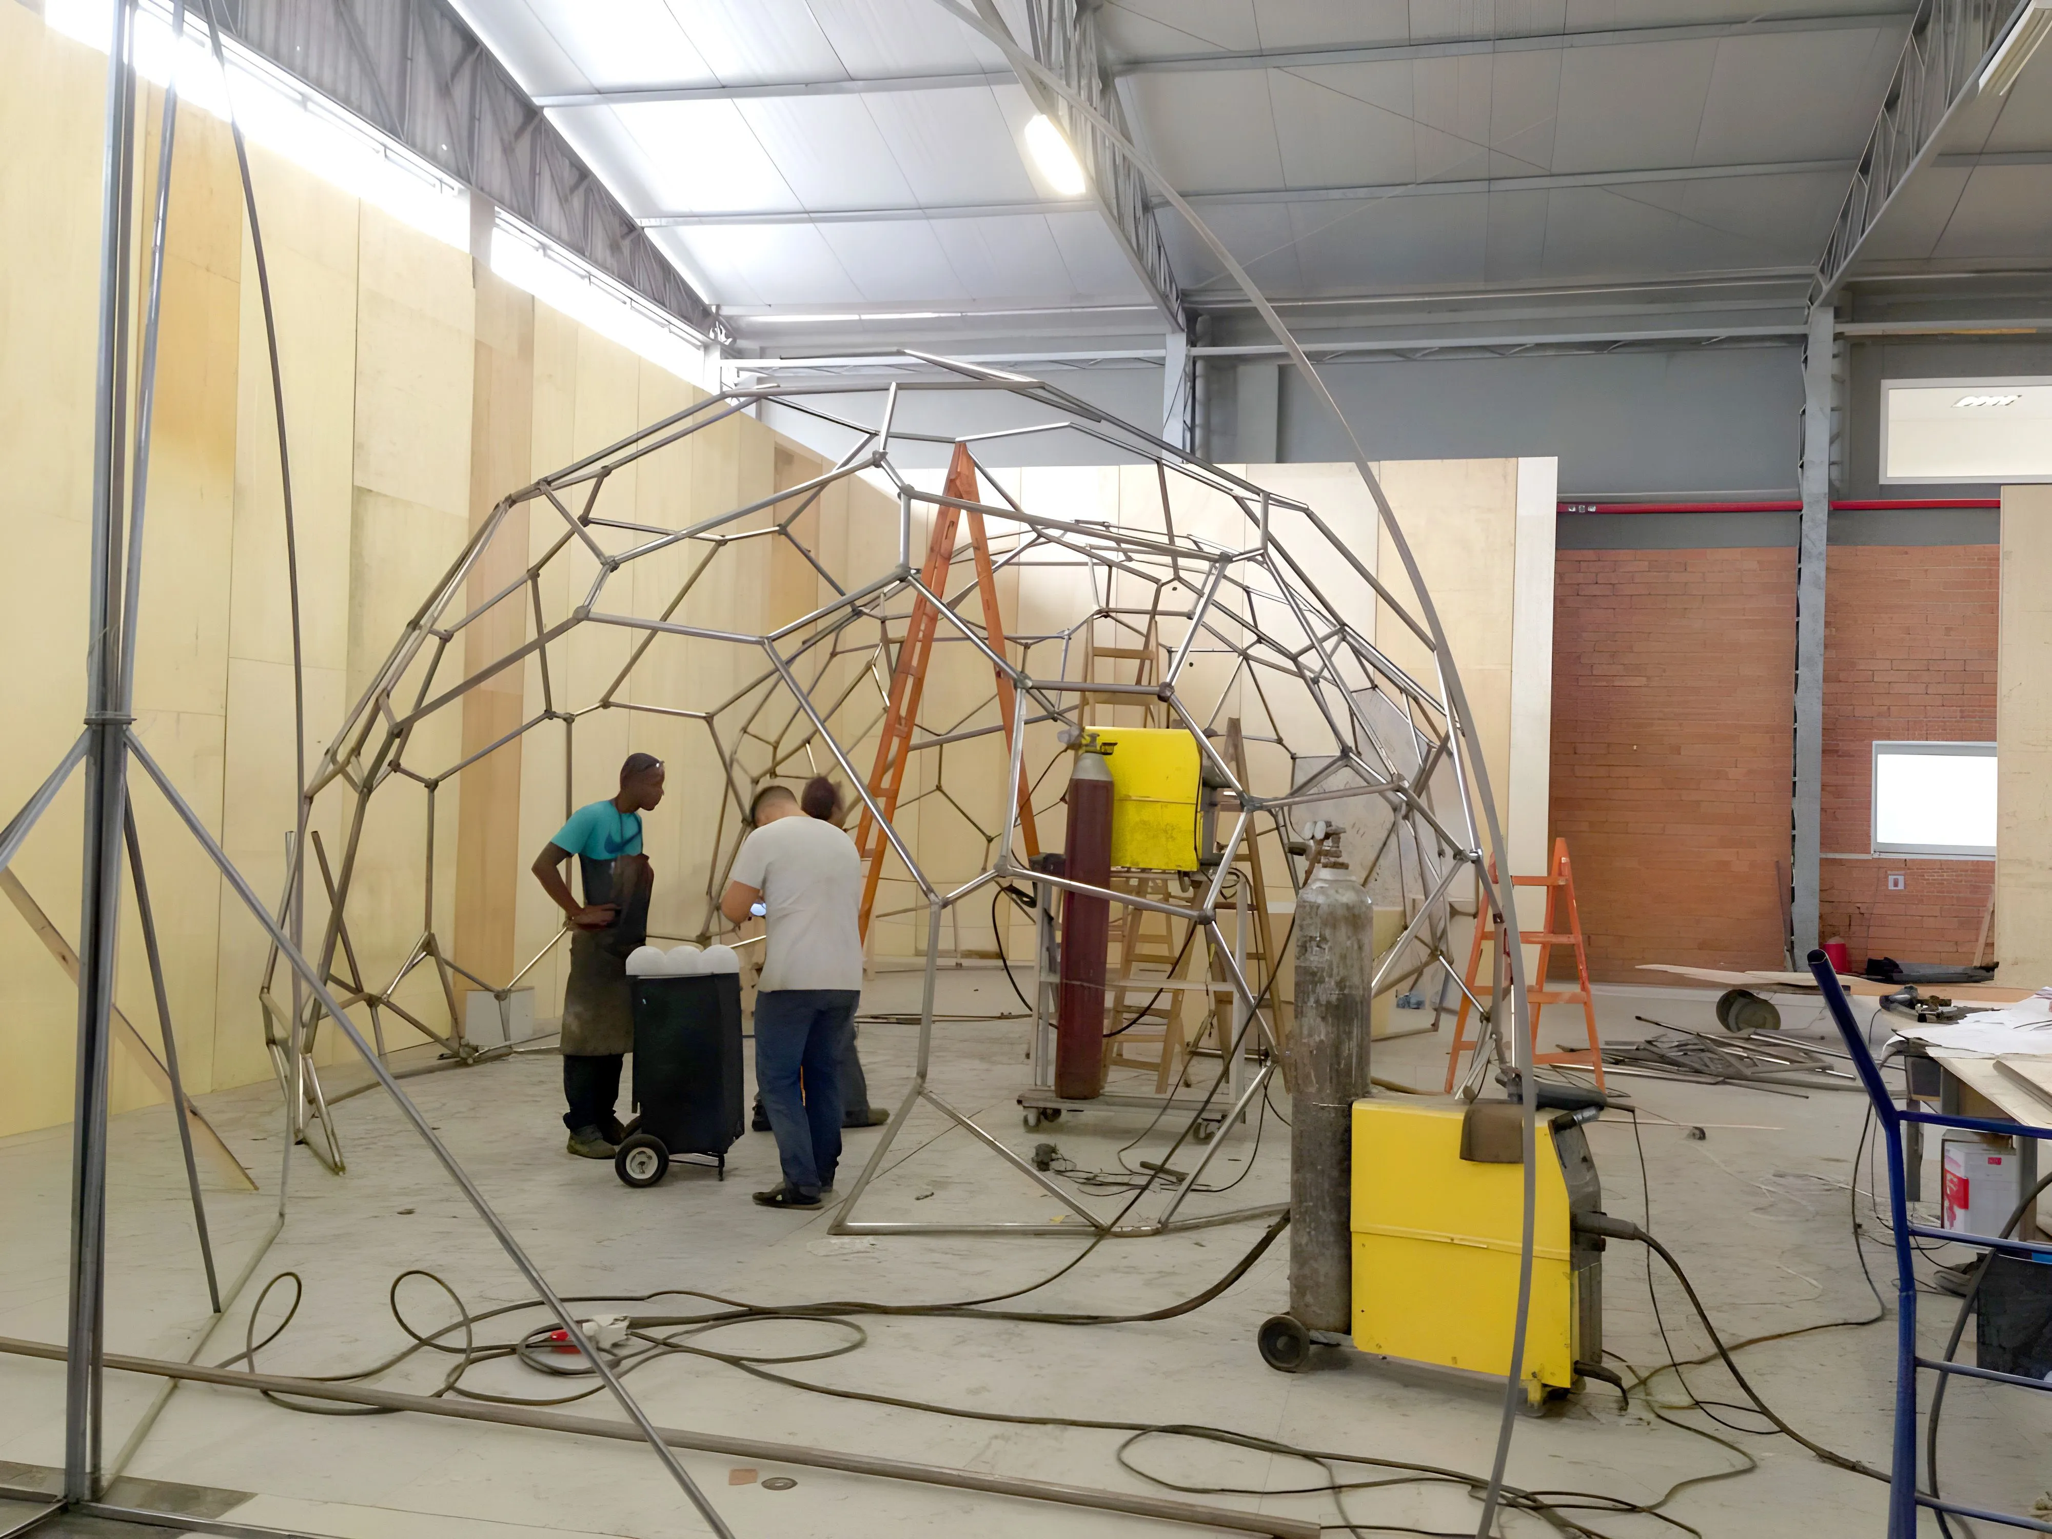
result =
[[[224,0],[222,31],[677,320],[731,341],[447,0]]]

